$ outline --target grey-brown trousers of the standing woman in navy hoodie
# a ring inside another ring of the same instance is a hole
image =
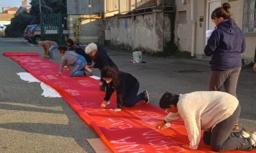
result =
[[[237,80],[241,68],[230,69],[227,71],[211,71],[209,81],[209,91],[220,91],[224,84],[225,92],[236,97]]]

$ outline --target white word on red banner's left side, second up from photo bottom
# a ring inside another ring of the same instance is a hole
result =
[[[106,127],[106,129],[109,129],[110,131],[132,128],[131,124],[126,123],[124,120],[120,118],[102,120],[101,122],[108,123],[108,127]]]

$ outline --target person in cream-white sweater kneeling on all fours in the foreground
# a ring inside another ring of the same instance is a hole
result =
[[[239,101],[235,96],[220,91],[197,91],[188,94],[166,92],[159,106],[169,112],[164,120],[157,122],[157,129],[173,120],[183,119],[188,133],[189,145],[185,148],[197,149],[204,131],[203,140],[217,152],[227,150],[255,149],[256,132],[232,132],[240,114]],[[250,137],[249,137],[250,136]]]

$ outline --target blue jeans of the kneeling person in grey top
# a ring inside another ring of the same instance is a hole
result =
[[[86,61],[84,58],[77,56],[76,61],[74,62],[74,67],[70,73],[70,77],[80,77],[84,76],[84,66],[86,65]]]

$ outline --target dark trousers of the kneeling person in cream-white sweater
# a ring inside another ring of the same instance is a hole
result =
[[[232,132],[241,112],[240,105],[235,112],[227,119],[216,124],[211,131],[204,131],[204,143],[211,145],[211,149],[216,152],[227,150],[252,150],[250,138],[240,138],[239,133]]]

